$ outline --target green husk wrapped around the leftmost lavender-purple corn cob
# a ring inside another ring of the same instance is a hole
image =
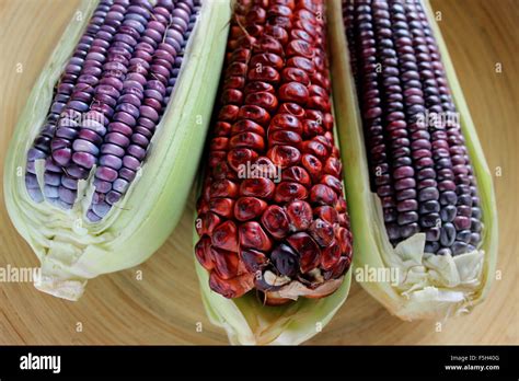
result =
[[[78,300],[86,280],[146,261],[175,227],[194,181],[210,120],[229,30],[229,1],[205,1],[186,47],[170,105],[150,152],[124,199],[99,223],[84,217],[90,198],[71,210],[28,196],[26,152],[43,126],[53,88],[72,54],[95,1],[84,0],[43,69],[19,119],[4,168],[5,204],[13,224],[42,264],[35,287]],[[36,166],[42,170],[42,162]],[[93,172],[92,172],[93,173]],[[89,195],[86,182],[80,187]]]

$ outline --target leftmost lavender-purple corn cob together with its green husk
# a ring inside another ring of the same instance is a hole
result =
[[[101,0],[79,11],[89,18],[71,23],[42,73],[4,178],[10,216],[42,262],[36,287],[72,300],[86,279],[145,261],[176,223],[229,3]]]

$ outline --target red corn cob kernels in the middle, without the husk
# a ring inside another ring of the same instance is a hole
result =
[[[226,298],[321,298],[349,268],[322,12],[322,1],[237,8],[195,249]]]

